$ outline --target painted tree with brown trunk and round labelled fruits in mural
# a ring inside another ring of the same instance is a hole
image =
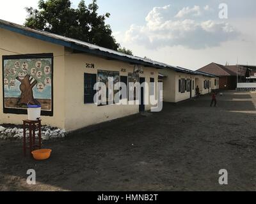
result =
[[[34,87],[43,92],[51,85],[51,59],[7,60],[4,64],[4,86],[9,90],[20,82],[17,105],[40,104],[33,96]]]

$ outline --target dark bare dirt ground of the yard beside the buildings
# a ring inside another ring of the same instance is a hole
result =
[[[256,94],[223,92],[44,143],[47,161],[0,142],[1,191],[255,191]],[[26,171],[36,170],[36,185]],[[220,169],[228,185],[220,186]]]

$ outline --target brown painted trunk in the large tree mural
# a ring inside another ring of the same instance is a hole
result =
[[[33,87],[36,85],[37,81],[34,80],[33,83],[31,84],[31,81],[33,78],[29,80],[29,75],[26,75],[24,79],[20,79],[19,77],[16,78],[19,80],[20,84],[20,99],[17,102],[17,105],[27,105],[28,103],[31,105],[36,105],[36,100],[34,99],[33,96]]]

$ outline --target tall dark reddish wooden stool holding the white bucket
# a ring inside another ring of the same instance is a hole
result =
[[[38,120],[23,120],[23,152],[26,156],[26,149],[29,149],[29,152],[36,149],[41,149],[41,119]],[[26,130],[29,130],[29,136],[27,137]],[[36,130],[38,130],[38,145],[36,145]],[[27,147],[27,138],[29,139],[29,146]]]

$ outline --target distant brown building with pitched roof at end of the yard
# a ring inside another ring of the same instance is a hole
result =
[[[205,73],[220,77],[220,89],[234,90],[237,87],[237,78],[238,83],[246,82],[246,70],[247,68],[242,65],[223,66],[212,62],[197,71],[204,71]]]

